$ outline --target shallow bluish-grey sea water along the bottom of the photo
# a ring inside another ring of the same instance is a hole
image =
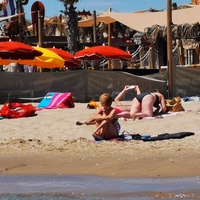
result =
[[[0,177],[0,200],[200,199],[200,177]]]

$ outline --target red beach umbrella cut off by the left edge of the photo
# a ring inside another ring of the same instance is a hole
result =
[[[7,60],[18,60],[18,59],[34,59],[36,56],[41,56],[42,52],[38,49],[34,49],[28,44],[15,41],[3,41],[0,42],[0,58],[3,62]]]

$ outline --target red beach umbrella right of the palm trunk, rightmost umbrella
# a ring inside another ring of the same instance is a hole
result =
[[[87,49],[77,51],[74,55],[75,59],[80,60],[130,60],[131,54],[117,47],[111,46],[94,46]]]

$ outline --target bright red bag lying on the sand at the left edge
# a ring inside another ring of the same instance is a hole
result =
[[[1,108],[1,116],[5,118],[30,117],[36,112],[32,104],[5,103]]]

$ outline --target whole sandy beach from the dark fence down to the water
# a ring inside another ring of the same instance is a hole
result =
[[[121,131],[140,135],[195,133],[154,142],[94,142],[93,125],[76,125],[96,112],[87,109],[86,103],[75,103],[70,109],[43,109],[28,118],[0,120],[0,172],[123,178],[199,176],[200,102],[182,105],[185,112],[163,118],[119,120]]]

